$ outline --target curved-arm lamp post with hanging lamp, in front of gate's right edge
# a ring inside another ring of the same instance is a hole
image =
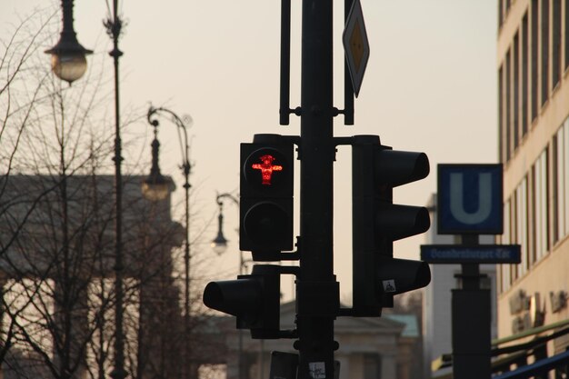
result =
[[[143,194],[147,199],[150,200],[162,200],[168,195],[170,184],[169,181],[165,179],[163,175],[160,174],[160,168],[158,166],[158,147],[160,144],[156,138],[158,125],[157,116],[161,114],[170,115],[171,121],[176,125],[178,132],[178,139],[180,141],[180,150],[182,152],[182,173],[184,174],[184,191],[185,191],[185,250],[184,250],[184,270],[185,270],[185,285],[184,285],[184,325],[185,325],[185,364],[184,367],[184,377],[185,379],[190,377],[190,344],[189,344],[189,327],[190,327],[190,172],[192,165],[190,165],[189,152],[190,145],[187,136],[187,129],[193,123],[192,117],[185,116],[186,121],[182,120],[178,115],[169,109],[164,107],[155,108],[152,105],[148,109],[148,114],[146,118],[150,125],[155,128],[155,139],[152,142],[152,167],[150,169],[150,175],[145,179],[143,183]]]

